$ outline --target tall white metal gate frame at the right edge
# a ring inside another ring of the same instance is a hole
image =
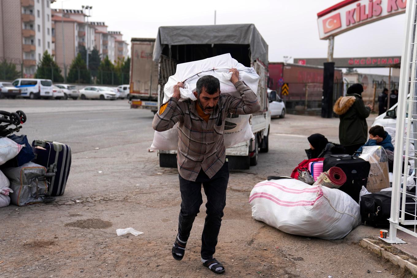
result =
[[[402,50],[399,99],[396,111],[394,177],[392,180],[391,217],[388,243],[405,243],[397,230],[417,237],[417,193],[408,180],[414,181],[417,166],[417,0],[408,1],[406,33]],[[404,163],[403,163],[404,162]],[[404,165],[404,166],[403,166]],[[410,198],[411,197],[411,198]],[[406,208],[407,207],[407,211]],[[404,227],[406,225],[406,227]]]

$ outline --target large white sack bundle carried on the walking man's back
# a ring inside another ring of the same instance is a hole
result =
[[[181,63],[177,65],[176,73],[168,78],[168,82],[163,89],[164,98],[162,103],[166,103],[172,97],[173,87],[178,82],[184,83],[184,88],[180,88],[181,98],[179,101],[191,99],[196,100],[193,92],[196,91],[196,84],[198,78],[205,75],[212,75],[220,81],[220,91],[222,95],[235,96],[240,98],[240,94],[236,91],[236,87],[231,83],[231,72],[229,69],[236,68],[239,71],[239,80],[242,80],[249,86],[249,88],[257,93],[259,75],[254,68],[248,68],[236,61],[231,55],[223,54],[216,57],[207,58],[204,60],[193,61],[188,63]],[[224,144],[227,147],[232,147],[238,143],[245,142],[254,138],[251,126],[249,124],[250,115],[239,115],[235,118],[226,118],[234,126],[224,132]],[[149,151],[155,149],[160,150],[176,150],[178,148],[178,129],[174,126],[168,131],[155,131],[153,136],[153,143]]]

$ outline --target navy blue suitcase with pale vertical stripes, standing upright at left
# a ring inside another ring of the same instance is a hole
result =
[[[35,154],[32,162],[44,166],[50,173],[55,173],[50,183],[50,196],[63,195],[70,174],[71,148],[58,142],[35,140],[32,142],[32,149]]]

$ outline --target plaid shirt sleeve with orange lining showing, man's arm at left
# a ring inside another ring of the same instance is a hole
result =
[[[181,109],[181,105],[178,103],[178,99],[171,97],[163,109],[162,114],[156,113],[153,117],[152,127],[156,131],[166,131],[172,129],[172,127],[179,121],[184,121],[184,112]]]

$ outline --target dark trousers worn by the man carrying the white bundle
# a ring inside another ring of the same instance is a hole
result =
[[[219,235],[221,217],[226,205],[226,189],[229,181],[229,163],[223,167],[211,179],[201,169],[195,182],[183,179],[179,176],[181,191],[181,211],[178,217],[178,233],[182,241],[187,241],[191,227],[200,206],[203,203],[201,196],[201,184],[207,197],[206,221],[204,222],[203,235],[201,235],[201,258],[210,259],[216,252],[217,236]]]

